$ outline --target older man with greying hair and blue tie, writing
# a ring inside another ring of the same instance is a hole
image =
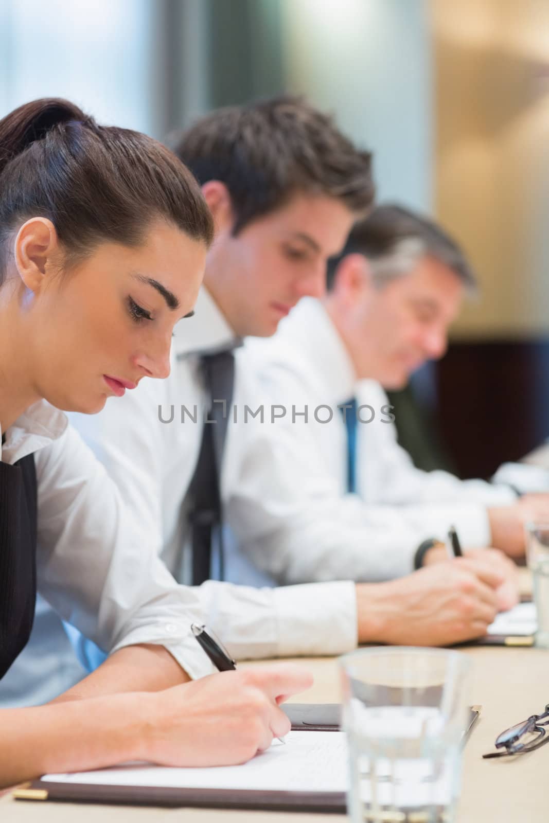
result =
[[[451,525],[473,556],[500,549],[483,556],[512,581],[505,555],[523,554],[523,523],[547,517],[549,498],[517,500],[508,486],[416,469],[384,393],[443,356],[449,324],[475,289],[444,230],[380,206],[332,260],[327,295],[301,300],[275,337],[247,346],[242,356],[284,410],[269,436],[286,497],[269,516],[272,495],[250,461],[230,520],[254,565],[277,582],[406,574],[446,557],[442,547],[417,547],[444,541]]]

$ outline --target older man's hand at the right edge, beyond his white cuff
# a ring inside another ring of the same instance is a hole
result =
[[[528,520],[549,522],[549,495],[524,495],[509,506],[487,509],[491,545],[509,557],[523,557],[526,549],[524,526]]]

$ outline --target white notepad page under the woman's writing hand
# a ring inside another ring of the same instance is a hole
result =
[[[75,774],[46,774],[56,783],[159,788],[232,788],[263,791],[345,792],[347,744],[343,732],[290,732],[248,763],[207,769],[130,764]]]

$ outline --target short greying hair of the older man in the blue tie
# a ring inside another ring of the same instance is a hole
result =
[[[328,289],[333,286],[339,263],[355,253],[364,254],[373,263],[379,283],[407,273],[420,258],[428,256],[451,269],[468,291],[477,290],[472,267],[455,240],[430,218],[403,206],[378,206],[356,223],[342,252],[328,260]]]

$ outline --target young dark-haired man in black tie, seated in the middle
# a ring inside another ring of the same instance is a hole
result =
[[[370,155],[299,99],[214,112],[176,151],[198,175],[216,229],[195,317],[174,338],[172,373],[156,391],[145,383],[98,416],[72,418],[144,539],[156,540],[179,581],[198,586],[205,621],[235,658],[482,634],[502,577],[478,561],[454,561],[451,582],[435,568],[388,584],[251,588],[208,579],[211,570],[222,576],[223,518],[245,469],[254,464],[273,499],[286,495],[271,471],[268,431],[257,417],[245,419],[246,405],[255,411],[261,398],[235,347],[249,334],[275,332],[302,296],[323,295],[327,260],[371,206],[373,186]],[[143,308],[154,323],[154,305]],[[406,620],[394,620],[396,604]]]

